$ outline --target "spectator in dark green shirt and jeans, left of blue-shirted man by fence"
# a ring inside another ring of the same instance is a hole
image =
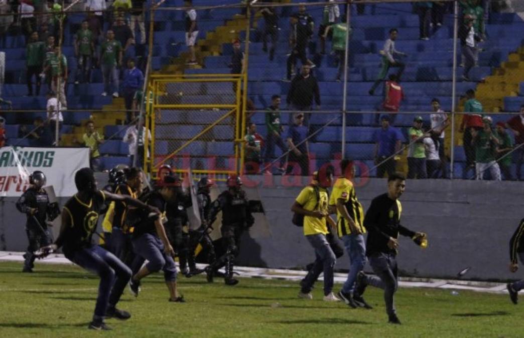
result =
[[[264,155],[264,162],[267,166],[275,157],[275,145],[277,145],[282,153],[288,151],[284,143],[281,133],[283,127],[280,125],[280,95],[273,95],[271,97],[271,106],[266,109],[266,153]],[[280,159],[280,169],[283,170],[284,158]],[[271,173],[270,169],[266,169],[266,173]]]

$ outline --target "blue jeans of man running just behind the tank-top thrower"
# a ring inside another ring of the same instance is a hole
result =
[[[146,267],[149,272],[162,270],[166,282],[177,280],[177,267],[173,258],[163,252],[164,246],[160,238],[152,234],[140,235],[133,239],[133,248],[137,255],[148,261]]]

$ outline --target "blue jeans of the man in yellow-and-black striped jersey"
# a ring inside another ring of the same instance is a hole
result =
[[[353,293],[357,273],[362,271],[366,264],[366,242],[364,240],[364,235],[362,234],[345,235],[342,236],[341,239],[344,242],[347,255],[351,260],[350,272],[347,273],[347,279],[342,287],[342,292]]]

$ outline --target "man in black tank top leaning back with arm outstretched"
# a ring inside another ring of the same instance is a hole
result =
[[[93,321],[89,329],[111,330],[106,318],[128,319],[129,312],[116,309],[116,304],[131,277],[131,270],[112,253],[91,242],[96,229],[100,209],[106,201],[123,201],[150,213],[158,214],[155,207],[148,206],[131,196],[115,195],[97,190],[96,180],[90,168],[82,168],[75,174],[78,193],[63,208],[60,235],[48,252],[63,247],[62,251],[71,262],[85,270],[94,271],[100,277],[99,294]]]

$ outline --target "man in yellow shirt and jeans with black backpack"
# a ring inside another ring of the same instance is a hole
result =
[[[322,177],[323,176],[323,177]],[[319,175],[313,173],[311,183],[302,189],[296,201],[291,207],[291,211],[304,215],[304,235],[313,249],[315,249],[315,262],[312,273],[308,273],[298,294],[299,298],[312,299],[311,289],[320,273],[324,273],[324,300],[340,301],[333,290],[333,267],[336,263],[335,253],[330,247],[326,234],[326,217],[328,217],[328,192],[326,188],[331,187],[333,177],[331,174],[324,173]]]

